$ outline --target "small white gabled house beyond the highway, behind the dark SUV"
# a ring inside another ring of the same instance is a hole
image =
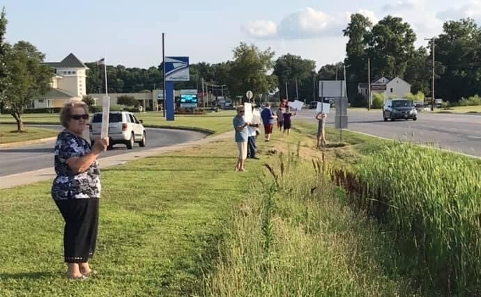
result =
[[[381,77],[381,79],[371,83],[371,92],[381,93],[385,99],[390,97],[404,98],[406,94],[411,93],[411,85],[400,77],[394,79]],[[358,84],[358,93],[367,96],[367,83]]]

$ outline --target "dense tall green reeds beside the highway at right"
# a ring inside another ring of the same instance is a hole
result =
[[[481,294],[481,167],[408,143],[386,145],[337,174],[356,204],[395,232],[404,264],[443,294]]]

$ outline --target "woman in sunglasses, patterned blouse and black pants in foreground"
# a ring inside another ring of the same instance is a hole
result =
[[[93,147],[83,138],[89,120],[89,107],[81,101],[63,106],[60,122],[65,129],[56,139],[54,165],[56,178],[52,198],[59,208],[63,231],[67,276],[84,280],[95,273],[89,259],[96,249],[100,170],[97,158],[109,145],[109,138],[95,141]]]

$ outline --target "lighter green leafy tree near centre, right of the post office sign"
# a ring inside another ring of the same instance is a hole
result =
[[[273,68],[274,51],[259,50],[255,45],[241,45],[234,49],[234,61],[229,71],[231,95],[244,95],[246,90],[267,94],[277,87],[275,76],[268,74]]]

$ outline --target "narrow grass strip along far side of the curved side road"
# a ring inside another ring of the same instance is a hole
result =
[[[151,127],[180,127],[191,129],[205,129],[213,133],[231,131],[234,111],[207,113],[206,115],[176,115],[174,121],[166,121],[162,113],[136,113],[139,120]],[[27,113],[22,116],[25,124],[57,124],[59,115],[52,113]],[[15,124],[11,115],[0,115],[0,124]]]

